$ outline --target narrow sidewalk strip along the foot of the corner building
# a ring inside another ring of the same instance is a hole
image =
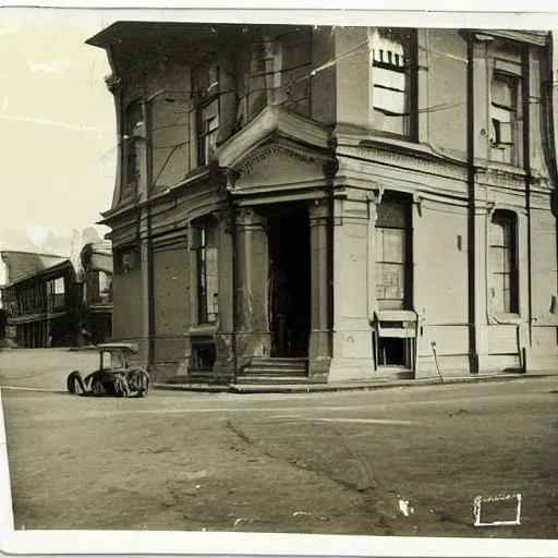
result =
[[[413,386],[442,386],[453,384],[474,384],[478,381],[507,381],[513,379],[529,379],[551,376],[555,373],[529,374],[485,374],[478,376],[457,376],[440,379],[439,376],[418,379],[379,379],[371,381],[339,381],[331,384],[154,384],[155,389],[173,391],[205,391],[228,393],[319,393],[330,391],[369,391],[375,389],[408,388]]]

